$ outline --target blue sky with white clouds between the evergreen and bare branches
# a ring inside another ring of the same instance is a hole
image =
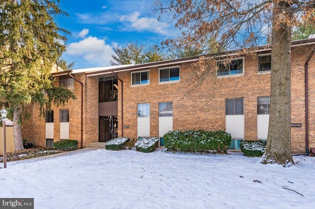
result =
[[[75,69],[109,66],[115,46],[159,45],[174,37],[173,24],[167,17],[158,21],[152,7],[152,0],[60,0],[69,16],[58,16],[55,22],[71,32],[63,59],[74,61]]]

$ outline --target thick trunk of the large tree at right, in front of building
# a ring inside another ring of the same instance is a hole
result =
[[[279,17],[277,18],[277,14],[285,8],[285,3],[275,7],[276,15],[272,27],[270,118],[262,163],[289,166],[294,164],[291,156],[291,27],[285,23],[281,24]],[[290,18],[289,12],[285,14],[285,18]]]

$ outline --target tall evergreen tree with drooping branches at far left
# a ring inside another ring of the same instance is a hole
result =
[[[15,150],[24,149],[21,125],[29,104],[39,104],[43,113],[51,103],[75,98],[53,87],[50,76],[65,50],[60,32],[67,31],[54,23],[60,14],[67,15],[54,0],[0,1],[0,103],[12,111]]]

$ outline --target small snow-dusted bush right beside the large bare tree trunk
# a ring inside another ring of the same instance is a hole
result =
[[[265,141],[241,141],[241,151],[248,157],[261,157],[265,148]]]

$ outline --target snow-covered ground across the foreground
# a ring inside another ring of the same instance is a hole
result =
[[[259,159],[82,150],[8,162],[0,197],[34,198],[35,209],[315,208],[315,157],[289,168]]]

